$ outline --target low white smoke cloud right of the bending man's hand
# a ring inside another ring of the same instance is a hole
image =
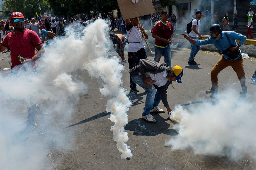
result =
[[[235,92],[222,94],[218,101],[204,103],[186,110],[175,107],[170,119],[178,124],[179,135],[166,145],[173,150],[192,148],[195,154],[224,156],[241,159],[256,153],[255,100],[238,100]]]

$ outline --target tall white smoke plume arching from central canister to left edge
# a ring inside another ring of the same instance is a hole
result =
[[[100,89],[102,96],[110,98],[106,110],[113,114],[109,119],[115,123],[111,130],[117,142],[117,149],[122,153],[121,158],[131,157],[129,146],[125,144],[128,141],[128,135],[124,131],[124,126],[128,122],[126,112],[131,102],[126,96],[127,92],[121,87],[121,72],[124,66],[119,64],[119,58],[108,57],[111,47],[108,39],[108,24],[102,19],[97,19],[87,27],[76,22],[67,26],[65,31],[67,31],[65,37],[57,36],[52,41],[48,40],[51,42],[45,46],[45,54],[37,60],[37,73],[31,67],[31,63],[24,63],[14,67],[12,73],[0,74],[2,82],[0,91],[4,100],[2,102],[4,104],[2,106],[3,122],[7,125],[1,128],[4,136],[12,136],[12,140],[16,142],[20,140],[18,143],[23,142],[23,139],[17,137],[17,132],[24,129],[22,125],[26,122],[21,122],[20,117],[15,115],[27,113],[26,107],[35,103],[44,106],[40,109],[43,110],[44,115],[48,115],[49,120],[45,122],[49,126],[53,122],[58,122],[60,127],[66,127],[72,115],[75,114],[74,105],[79,95],[87,93],[86,82],[79,80],[76,71],[88,70],[92,77],[102,80],[103,88]],[[17,110],[19,110],[18,113],[16,113]],[[44,116],[42,117],[44,119]],[[63,150],[70,149],[70,144],[61,142],[68,136],[61,134],[57,129],[51,129],[51,133],[54,135],[49,137],[49,141],[54,141]],[[15,150],[12,152],[10,155],[16,154]],[[21,169],[31,166],[31,161],[28,163],[23,160],[22,163],[24,168]],[[38,163],[34,165],[35,167],[42,166],[39,160],[33,163]]]

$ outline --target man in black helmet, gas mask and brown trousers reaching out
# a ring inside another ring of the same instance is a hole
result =
[[[210,33],[211,36],[206,40],[193,40],[188,35],[182,34],[185,39],[196,45],[213,44],[219,49],[220,54],[223,54],[211,70],[212,87],[206,93],[218,92],[218,74],[221,70],[231,66],[240,81],[243,90],[241,94],[244,96],[247,93],[247,87],[245,85],[243,58],[239,47],[244,44],[246,37],[236,32],[223,32],[219,24],[213,24],[210,27]],[[240,40],[238,44],[236,44],[236,40]]]

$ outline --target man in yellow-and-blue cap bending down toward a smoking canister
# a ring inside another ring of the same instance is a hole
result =
[[[148,59],[140,59],[140,65],[129,70],[132,81],[138,84],[147,92],[142,119],[147,122],[155,123],[150,113],[164,113],[165,111],[158,106],[160,100],[164,103],[168,114],[172,109],[167,100],[167,89],[172,81],[181,83],[183,70],[180,66],[168,67],[166,63],[157,63]]]

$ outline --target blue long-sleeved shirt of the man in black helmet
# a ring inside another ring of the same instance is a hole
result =
[[[227,34],[228,34],[228,38],[230,39],[231,43],[235,46],[237,46],[236,40],[240,40],[238,43],[239,45],[243,45],[244,41],[246,40],[246,37],[244,35],[236,33],[234,31],[227,31]],[[218,50],[223,52],[224,50],[230,48],[231,44],[229,43],[229,41],[226,37],[226,34],[223,31],[221,32],[221,35],[222,35],[222,37],[220,38],[220,40],[214,40],[211,37],[207,38],[206,40],[196,40],[196,45],[213,44],[216,48],[218,48]],[[241,52],[240,49],[239,49],[239,51]],[[242,52],[241,52],[241,54],[242,54]],[[223,54],[223,56],[226,60],[229,58],[225,54]],[[237,58],[235,58],[235,60],[238,59],[240,56],[241,55],[239,55]]]

